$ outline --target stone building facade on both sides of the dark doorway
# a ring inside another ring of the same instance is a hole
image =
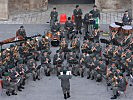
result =
[[[102,11],[121,11],[133,9],[133,0],[95,0]],[[17,12],[46,10],[48,0],[0,0],[0,20],[7,20]],[[132,16],[133,16],[133,10]]]

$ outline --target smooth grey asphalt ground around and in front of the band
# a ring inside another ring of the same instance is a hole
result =
[[[20,25],[0,25],[0,41],[5,38],[15,36],[15,32]],[[44,34],[48,25],[24,25],[27,35],[32,36],[36,33]],[[108,25],[101,26],[108,30]],[[57,48],[52,48],[55,52]],[[53,56],[53,54],[52,54]],[[0,92],[1,94],[1,92]],[[128,86],[127,97],[120,96],[118,100],[132,100],[133,87]],[[87,80],[86,77],[74,77],[71,79],[71,98],[68,100],[110,100],[112,91],[107,91],[106,82],[96,83],[94,80]],[[0,95],[0,100],[63,100],[63,94],[60,87],[60,80],[56,75],[50,77],[41,73],[40,81],[32,81],[32,78],[26,82],[26,87],[17,96],[7,97],[4,93]]]

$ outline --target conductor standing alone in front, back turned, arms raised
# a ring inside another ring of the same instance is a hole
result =
[[[64,94],[64,99],[70,97],[70,79],[72,78],[71,75],[66,75],[67,71],[63,70],[63,75],[60,75],[58,78],[61,79],[61,87]]]

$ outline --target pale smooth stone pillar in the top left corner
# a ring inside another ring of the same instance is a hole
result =
[[[8,19],[8,0],[0,0],[0,20]]]

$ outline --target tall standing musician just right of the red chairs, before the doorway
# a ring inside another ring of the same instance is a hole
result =
[[[76,33],[80,33],[81,32],[81,27],[82,27],[82,10],[80,9],[79,5],[76,5],[76,9],[74,9],[73,11],[73,15],[74,15],[74,19],[75,19],[75,24],[76,24]]]

